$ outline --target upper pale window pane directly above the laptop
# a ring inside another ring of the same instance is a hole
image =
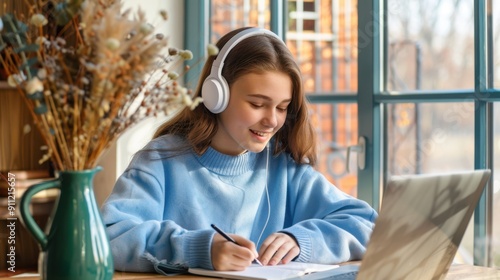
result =
[[[474,88],[474,1],[388,0],[389,91]]]

